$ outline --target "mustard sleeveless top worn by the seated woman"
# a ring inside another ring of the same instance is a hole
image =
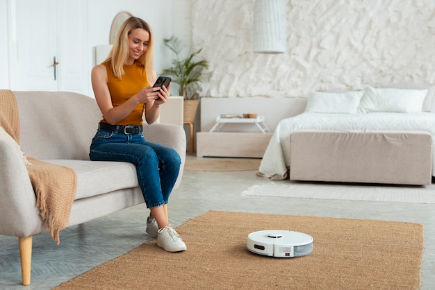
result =
[[[145,67],[138,62],[134,62],[133,65],[124,65],[124,76],[117,78],[113,75],[112,69],[110,69],[111,61],[103,62],[101,65],[106,67],[107,71],[107,85],[112,96],[112,105],[117,107],[122,105],[134,94],[140,91],[143,87],[148,86],[147,74],[145,73]],[[140,103],[134,108],[133,111],[121,121],[117,122],[117,125],[142,125],[142,114],[144,110],[144,104]],[[108,123],[104,117],[101,122]]]

